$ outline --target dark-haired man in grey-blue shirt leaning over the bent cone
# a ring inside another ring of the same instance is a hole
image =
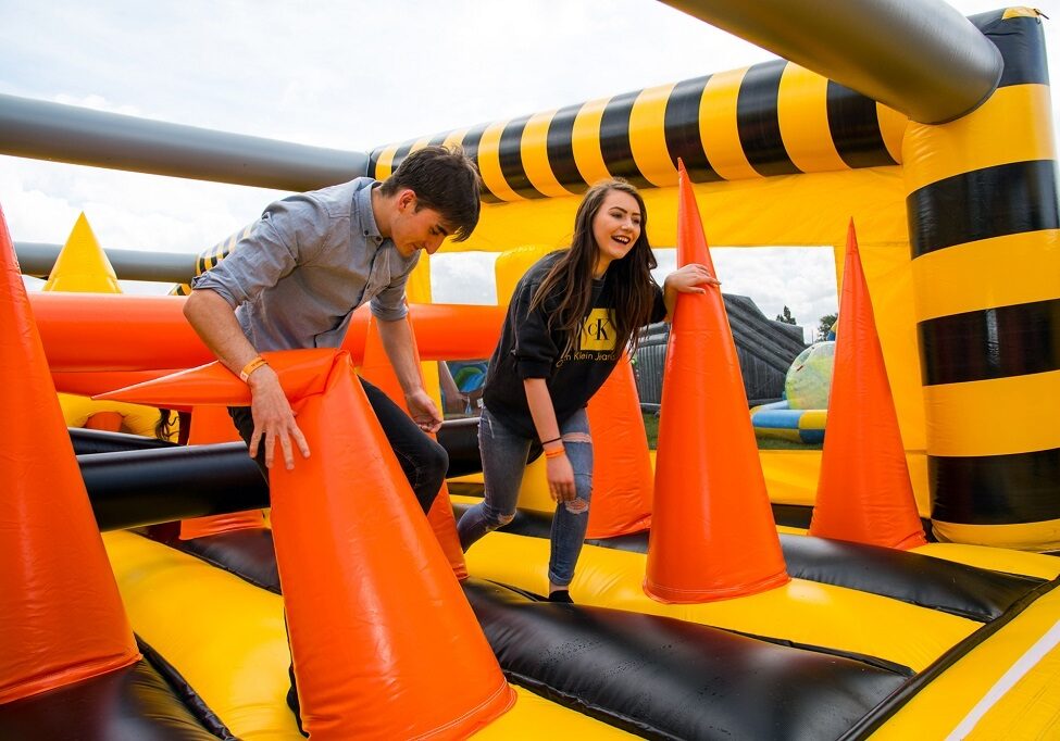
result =
[[[407,156],[385,183],[361,177],[270,205],[225,260],[191,284],[184,314],[217,359],[250,386],[251,406],[230,410],[250,455],[286,467],[309,445],[275,372],[271,350],[339,347],[354,309],[371,301],[379,337],[412,414],[362,381],[372,409],[424,512],[448,467],[424,432],[441,415],[423,389],[404,285],[421,251],[446,237],[461,241],[478,223],[479,179],[460,150],[427,147]]]

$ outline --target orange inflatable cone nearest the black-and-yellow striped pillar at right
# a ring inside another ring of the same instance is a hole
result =
[[[925,542],[853,219],[810,535],[898,549]]]

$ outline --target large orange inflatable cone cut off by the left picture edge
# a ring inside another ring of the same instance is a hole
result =
[[[0,212],[0,703],[139,660]]]

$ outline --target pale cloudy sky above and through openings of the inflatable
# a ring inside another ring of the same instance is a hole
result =
[[[950,4],[964,14],[1003,5]],[[1049,22],[1046,35],[1056,79],[1060,45]],[[0,0],[0,92],[339,149],[768,59],[652,0]],[[15,240],[61,243],[84,211],[105,248],[198,251],[282,194],[0,158],[0,205]],[[725,290],[743,290],[718,252]],[[813,326],[835,307],[825,252],[753,250],[733,260],[761,260],[756,279],[743,282],[763,311],[787,303]],[[672,264],[665,253],[660,261]],[[436,292],[452,299],[459,287],[489,301],[490,275],[489,259],[439,261]]]

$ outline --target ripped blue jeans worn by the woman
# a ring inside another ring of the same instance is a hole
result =
[[[584,409],[560,425],[560,435],[574,468],[576,495],[565,504],[556,505],[548,578],[557,586],[566,587],[574,578],[574,566],[582,552],[593,494],[593,440]],[[483,502],[467,510],[457,524],[460,545],[465,551],[490,530],[512,520],[532,443],[531,438],[504,427],[488,409],[483,409],[478,422],[478,448],[486,494]]]

